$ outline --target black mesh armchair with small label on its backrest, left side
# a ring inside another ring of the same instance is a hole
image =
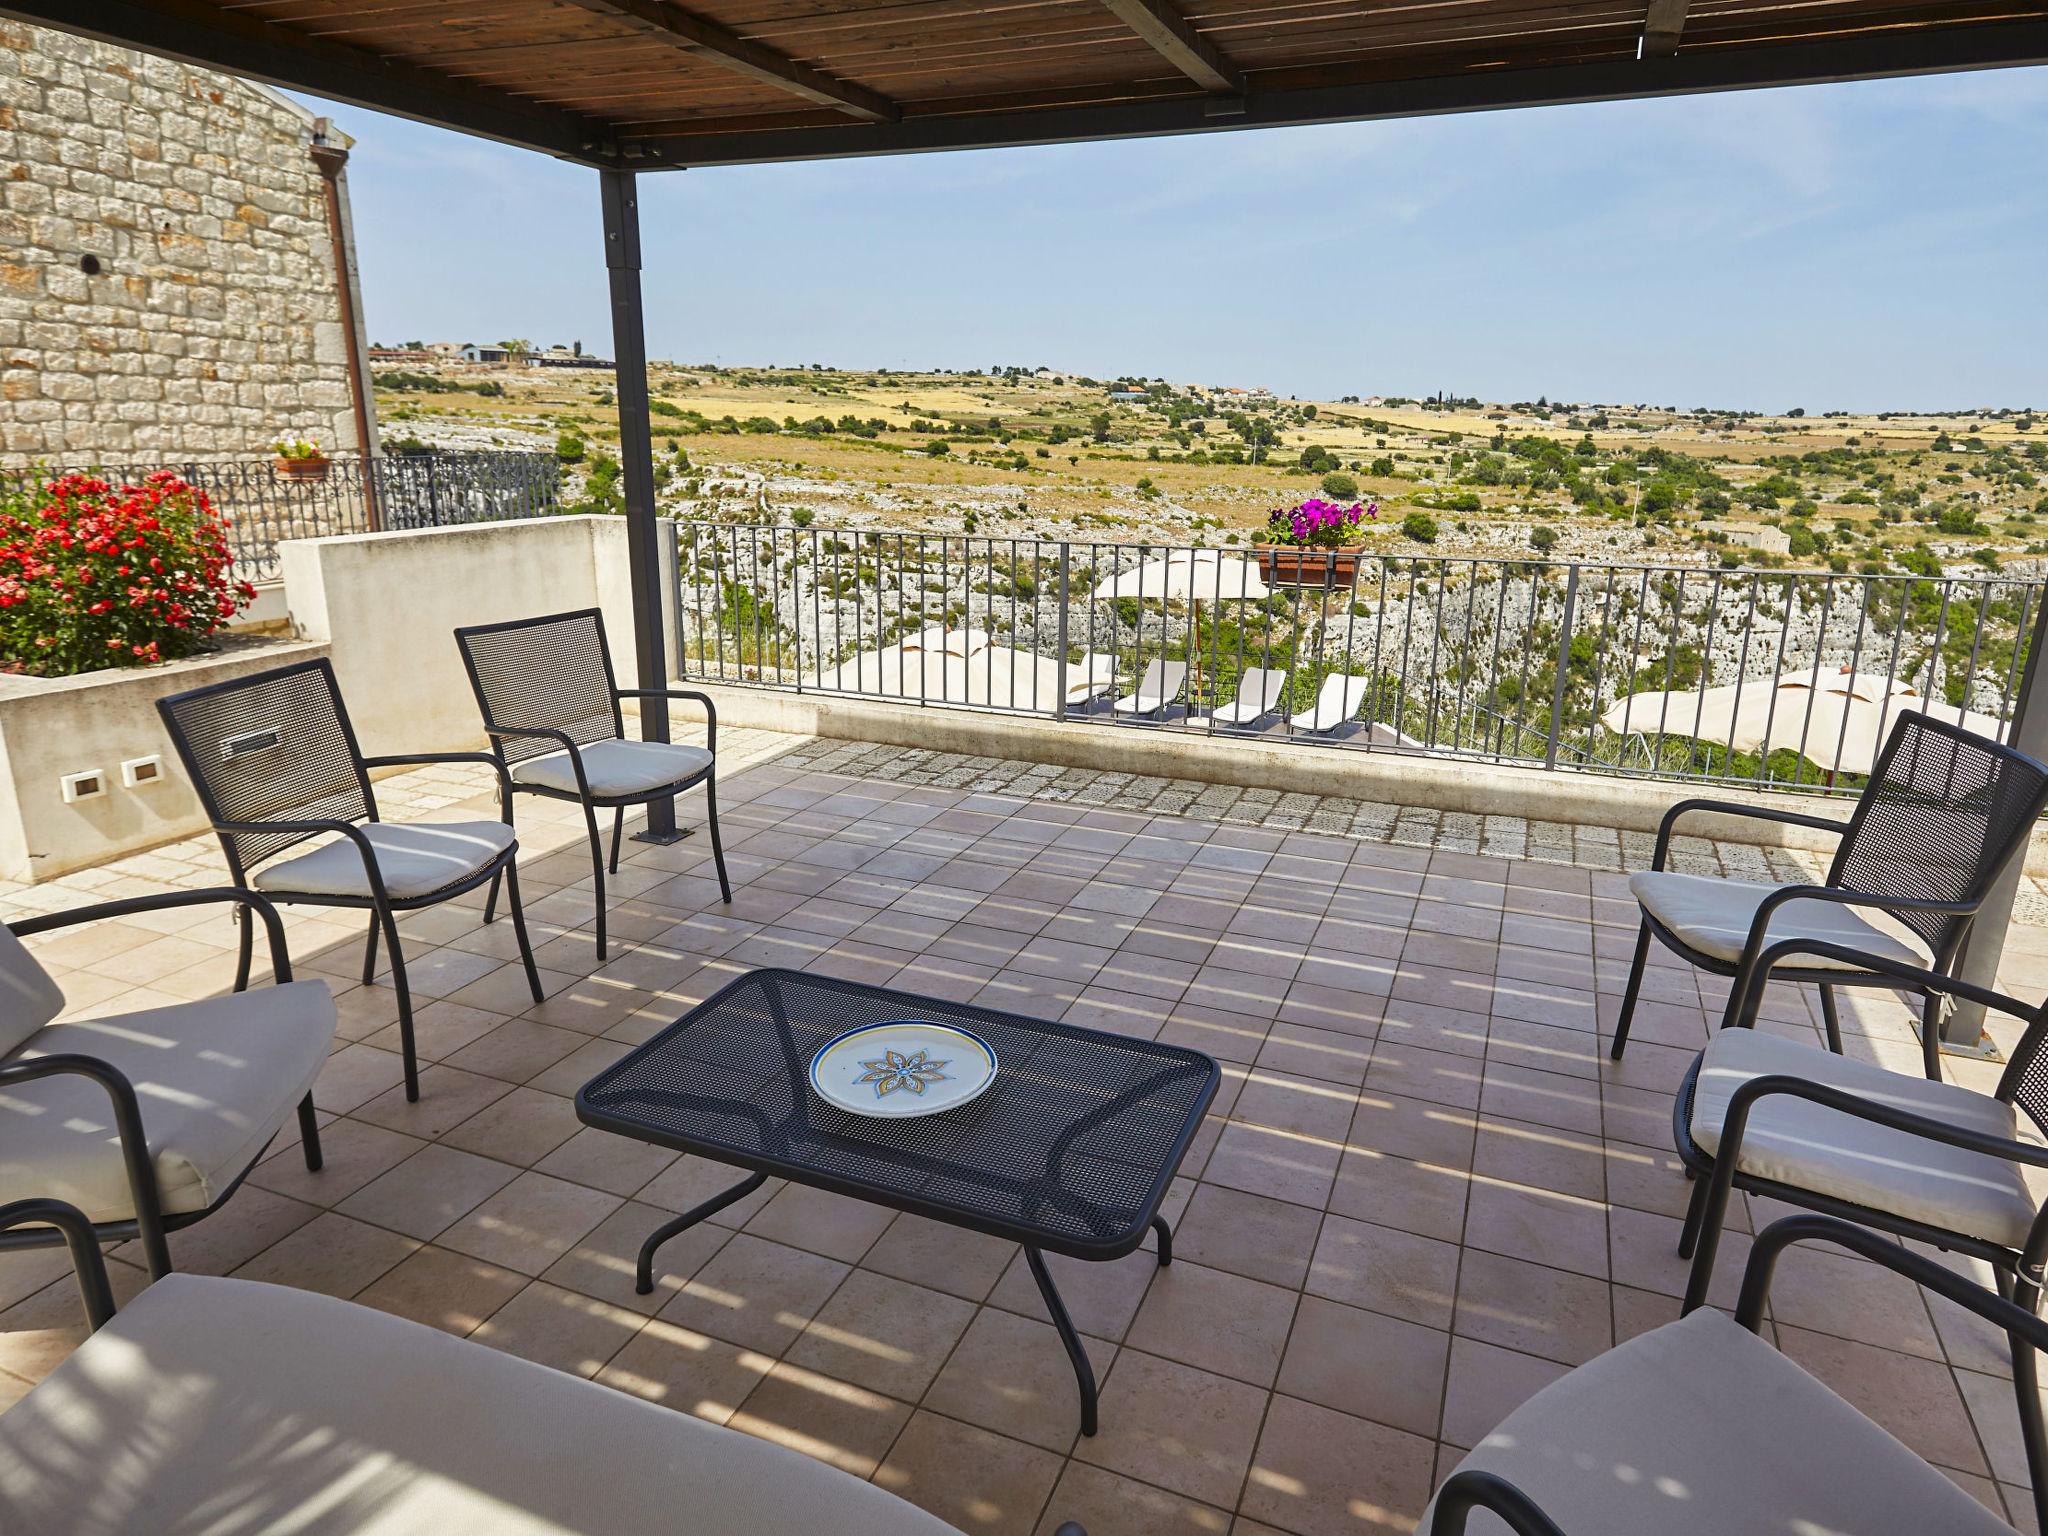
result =
[[[391,946],[408,1100],[420,1098],[420,1063],[395,913],[440,905],[502,874],[526,985],[541,1001],[541,973],[532,965],[518,899],[518,840],[512,827],[502,821],[379,821],[371,793],[371,768],[485,762],[504,780],[502,762],[487,752],[365,758],[326,657],[193,688],[160,698],[156,707],[221,838],[236,885],[250,885],[272,901],[369,909],[365,987],[377,975],[377,934],[383,930]],[[270,862],[287,848],[328,834],[332,840],[311,852]],[[250,942],[244,922],[238,989],[248,981]]]

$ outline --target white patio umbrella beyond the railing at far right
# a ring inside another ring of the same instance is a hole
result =
[[[1688,735],[1733,752],[1790,748],[1823,772],[1868,774],[1892,723],[1905,713],[1997,737],[1993,715],[1933,702],[1919,688],[1882,672],[1794,672],[1718,688],[1628,694],[1599,723],[1628,735]]]

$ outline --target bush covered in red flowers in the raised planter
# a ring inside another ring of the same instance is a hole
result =
[[[227,524],[168,469],[0,496],[0,670],[68,676],[193,655],[256,596]]]

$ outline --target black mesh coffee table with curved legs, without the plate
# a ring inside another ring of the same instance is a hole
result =
[[[879,1120],[811,1092],[811,1057],[864,1024],[926,1018],[981,1034],[1001,1061],[981,1098],[940,1114]],[[854,981],[752,971],[592,1077],[584,1124],[754,1169],[657,1227],[639,1253],[639,1292],[670,1237],[754,1194],[770,1174],[911,1210],[1024,1245],[1081,1384],[1081,1434],[1096,1432],[1096,1374],[1047,1253],[1118,1260],[1174,1235],[1159,1200],[1217,1094],[1200,1051],[1044,1024],[973,1004]]]

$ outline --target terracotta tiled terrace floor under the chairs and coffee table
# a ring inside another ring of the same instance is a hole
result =
[[[1720,997],[1655,967],[1626,1061],[1606,1061],[1634,938],[1616,870],[1647,846],[766,733],[729,733],[721,760],[731,907],[702,838],[629,842],[600,967],[580,823],[528,803],[545,1004],[477,903],[401,926],[432,1063],[420,1104],[397,1087],[391,991],[358,985],[358,924],[291,918],[301,975],[328,977],[342,1014],[315,1090],[328,1165],[274,1149],[172,1239],[178,1266],[354,1296],[596,1376],[969,1532],[1081,1520],[1092,1536],[1405,1532],[1513,1403],[1677,1313],[1669,1094]],[[434,770],[381,795],[408,815],[494,815],[481,788]],[[1712,844],[1686,858],[1800,868]],[[4,903],[219,877],[211,844],[190,842]],[[104,1014],[225,987],[231,944],[227,918],[201,911],[37,948],[80,1012]],[[754,965],[1225,1063],[1167,1202],[1174,1268],[1053,1262],[1102,1378],[1100,1436],[1077,1440],[1059,1339],[1018,1251],[991,1239],[770,1184],[670,1243],[657,1292],[633,1294],[639,1239],[727,1174],[580,1128],[569,1096]],[[2015,930],[2007,983],[2040,995],[2048,932]],[[1845,1014],[1851,1049],[1913,1069],[1901,1006],[1866,995]],[[1812,1032],[1806,997],[1772,999],[1765,1026]],[[1722,1303],[1743,1253],[1731,1235]],[[133,1294],[143,1274],[119,1260]],[[63,1260],[0,1255],[0,1307],[6,1403],[80,1337]],[[1833,1253],[1788,1257],[1772,1329],[2030,1524],[1999,1339]]]

